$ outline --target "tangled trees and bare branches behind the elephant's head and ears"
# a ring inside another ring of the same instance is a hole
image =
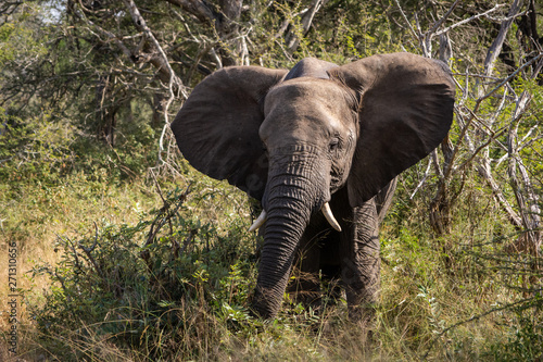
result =
[[[15,18],[25,7],[13,1],[2,11]],[[17,54],[17,61],[28,64],[7,73],[0,105],[17,99],[10,107],[20,112],[39,99],[87,120],[84,127],[114,147],[119,112],[132,101],[144,102],[153,110],[150,121],[161,128],[159,163],[164,150],[173,149],[164,146],[172,115],[191,86],[222,66],[290,66],[312,54],[343,63],[380,50],[440,58],[457,75],[459,129],[443,143],[442,162],[433,154],[414,190],[431,176],[438,178],[430,213],[434,230],[447,232],[469,170],[487,183],[515,227],[539,229],[538,186],[525,160],[540,147],[533,110],[543,82],[543,40],[533,0],[510,5],[438,1],[428,7],[400,0],[251,5],[242,0],[68,0],[59,11],[54,26],[37,14],[24,21],[49,42],[36,43],[27,57]],[[33,58],[33,52],[39,55]],[[505,161],[508,179],[503,183],[496,175],[504,173]],[[526,235],[533,235],[530,242],[538,249],[539,233]]]

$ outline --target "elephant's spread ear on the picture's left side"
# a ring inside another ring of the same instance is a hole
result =
[[[189,163],[262,200],[267,180],[267,159],[258,137],[264,98],[286,74],[285,70],[232,66],[194,87],[171,125]]]

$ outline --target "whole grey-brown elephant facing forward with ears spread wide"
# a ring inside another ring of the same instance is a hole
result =
[[[341,278],[351,316],[370,315],[395,177],[443,140],[453,104],[446,66],[409,53],[342,66],[304,59],[290,72],[227,67],[194,88],[172,124],[180,151],[267,212],[255,313],[277,314],[295,265],[289,290],[302,300],[318,300],[320,271]]]

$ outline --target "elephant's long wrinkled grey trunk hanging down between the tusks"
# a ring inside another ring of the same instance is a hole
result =
[[[279,311],[294,253],[311,214],[329,199],[323,173],[311,165],[290,162],[276,167],[268,177],[264,202],[267,221],[253,300],[254,311],[264,319],[274,317]]]

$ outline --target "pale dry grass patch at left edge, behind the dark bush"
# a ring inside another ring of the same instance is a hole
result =
[[[0,265],[8,265],[8,242],[16,242],[17,248],[17,288],[34,301],[42,299],[50,289],[46,276],[30,278],[29,271],[37,264],[56,264],[62,254],[56,252],[59,236],[74,237],[93,229],[100,221],[109,223],[137,223],[146,210],[160,205],[160,197],[150,192],[142,183],[108,185],[89,190],[83,175],[66,179],[58,187],[21,187],[16,198],[0,197]],[[8,269],[0,269],[0,300],[8,300],[10,294]],[[4,307],[4,305],[2,305]],[[2,308],[0,329],[10,327]],[[23,323],[29,323],[25,303],[21,304]]]

